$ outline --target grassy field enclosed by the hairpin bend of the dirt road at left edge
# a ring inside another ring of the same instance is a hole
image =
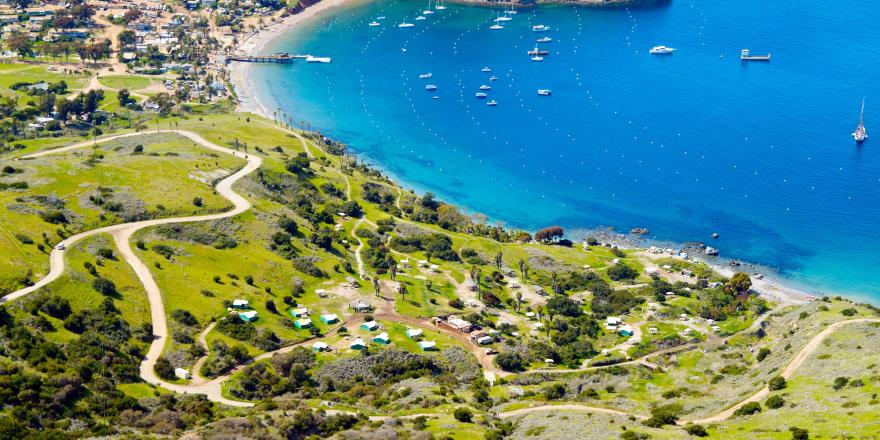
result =
[[[57,143],[35,148],[53,145]],[[134,153],[138,145],[146,145],[142,153]],[[227,209],[231,204],[211,185],[242,162],[170,134],[120,139],[97,149],[15,162],[15,172],[0,175],[0,182],[24,181],[28,188],[0,191],[0,204],[7,208],[0,211],[0,252],[8,256],[0,261],[0,292],[15,290],[18,280],[29,274],[45,273],[45,252],[62,236],[132,218]],[[201,206],[194,206],[196,197],[201,198]],[[44,221],[41,215],[51,211],[62,212],[66,223]],[[38,248],[41,242],[43,251]]]

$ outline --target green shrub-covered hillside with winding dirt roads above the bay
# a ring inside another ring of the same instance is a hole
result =
[[[40,114],[15,72],[7,127]],[[4,131],[0,438],[880,435],[872,306],[491,225],[224,106],[91,99]]]

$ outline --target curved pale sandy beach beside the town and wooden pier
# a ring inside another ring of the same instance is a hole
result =
[[[248,36],[239,43],[235,51],[245,54],[259,54],[270,41],[283,35],[288,30],[315,18],[322,13],[327,13],[328,11],[356,1],[358,0],[321,0],[320,2],[307,7],[298,14],[290,15],[279,22],[267,25],[256,34]],[[235,87],[235,94],[238,96],[238,107],[236,110],[240,112],[256,113],[271,119],[272,112],[256,98],[254,84],[250,78],[248,78],[250,67],[251,63],[241,62],[233,62],[229,65],[229,79]]]

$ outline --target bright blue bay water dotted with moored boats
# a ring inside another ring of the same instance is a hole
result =
[[[402,183],[510,226],[646,227],[712,241],[813,292],[880,299],[876,5],[541,7],[498,31],[496,10],[414,20],[425,8],[364,3],[284,35],[264,52],[333,62],[255,66],[259,96]],[[404,18],[416,26],[398,28]],[[526,51],[545,35],[551,54],[533,62]],[[649,55],[659,44],[678,50]],[[772,61],[741,63],[744,47]],[[481,84],[497,107],[474,97]],[[863,97],[877,139],[857,148]]]

